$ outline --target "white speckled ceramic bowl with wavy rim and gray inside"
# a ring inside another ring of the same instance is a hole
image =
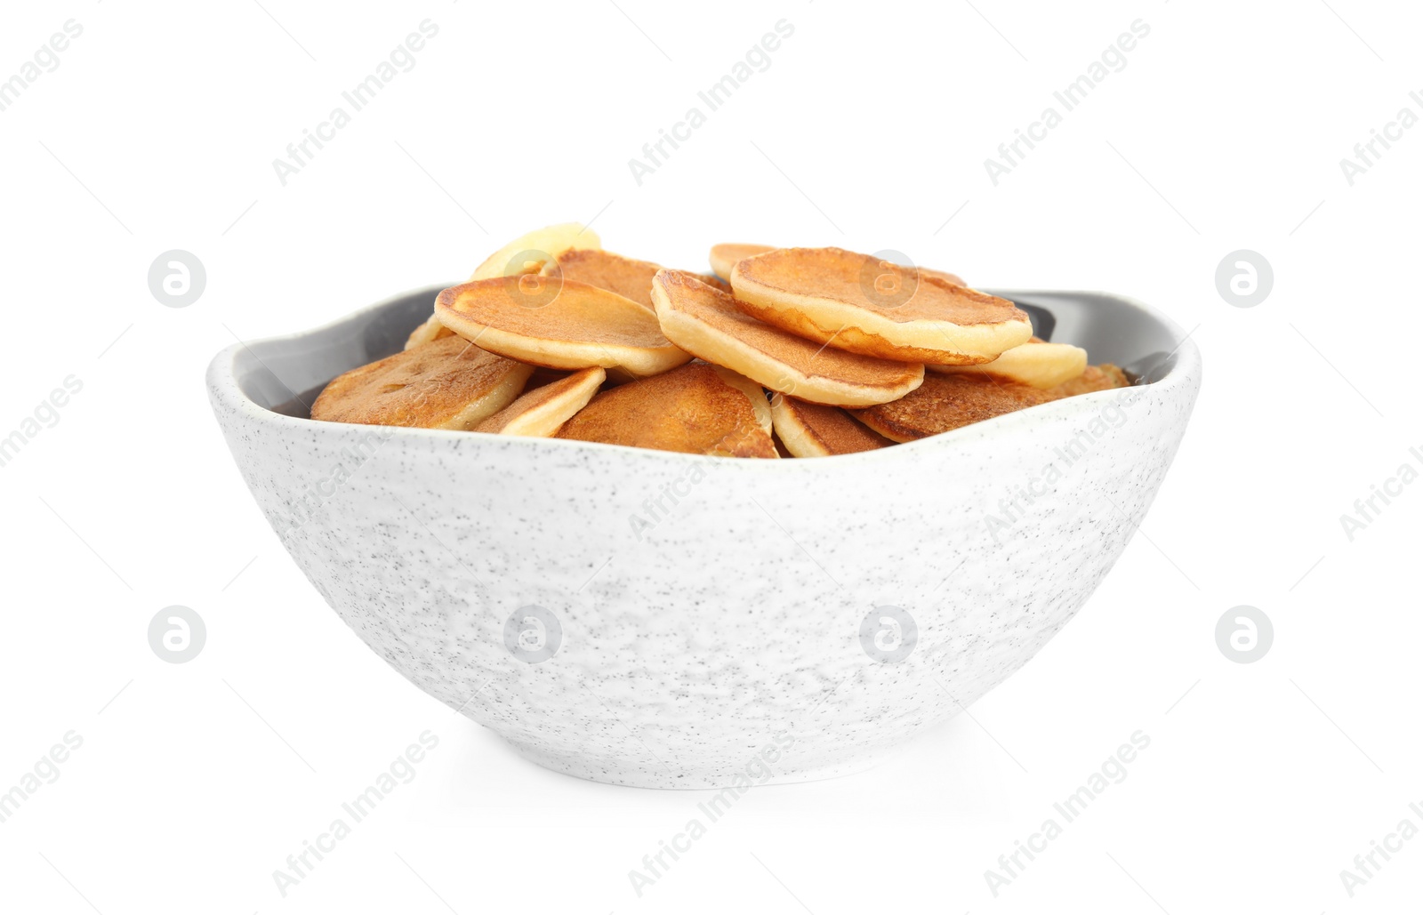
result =
[[[366,645],[527,758],[615,784],[857,771],[1003,682],[1121,555],[1201,379],[1140,303],[999,292],[1143,383],[815,460],[306,418],[437,292],[223,350],[213,411]]]

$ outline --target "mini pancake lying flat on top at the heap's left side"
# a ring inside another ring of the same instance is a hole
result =
[[[692,359],[657,316],[578,280],[512,276],[453,286],[435,299],[440,323],[499,356],[545,369],[622,370],[645,377]]]

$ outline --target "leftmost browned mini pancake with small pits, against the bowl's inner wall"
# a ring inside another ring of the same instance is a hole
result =
[[[312,404],[312,418],[470,430],[509,406],[532,371],[444,337],[337,376]]]

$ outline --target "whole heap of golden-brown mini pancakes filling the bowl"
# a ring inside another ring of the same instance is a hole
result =
[[[952,273],[840,248],[717,245],[713,275],[531,232],[445,289],[313,420],[726,457],[827,457],[1130,384]],[[928,371],[925,371],[928,370]]]

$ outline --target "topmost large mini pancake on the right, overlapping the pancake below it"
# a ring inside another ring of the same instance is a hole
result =
[[[778,248],[731,269],[741,307],[837,349],[972,366],[1033,336],[1012,302],[840,248]]]

